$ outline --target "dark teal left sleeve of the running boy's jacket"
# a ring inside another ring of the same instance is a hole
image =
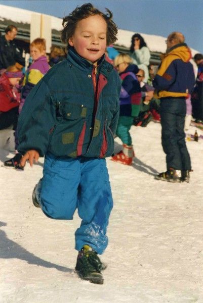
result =
[[[56,110],[49,88],[40,80],[26,98],[18,121],[18,151],[36,150],[44,157],[50,133],[56,124]]]

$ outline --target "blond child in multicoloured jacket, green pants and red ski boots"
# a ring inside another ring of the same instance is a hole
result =
[[[117,68],[122,81],[119,97],[120,111],[115,134],[122,141],[123,149],[118,154],[113,155],[111,160],[131,165],[134,150],[129,130],[133,125],[134,117],[137,117],[140,111],[141,88],[136,77],[139,69],[135,64],[132,64],[132,58],[127,54],[119,54],[114,60],[114,66]]]

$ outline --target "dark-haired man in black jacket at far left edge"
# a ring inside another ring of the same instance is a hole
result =
[[[17,35],[17,28],[9,25],[5,29],[5,35],[0,36],[0,70],[7,69],[17,63],[17,68],[25,66],[25,59],[22,58],[19,49],[13,41]]]

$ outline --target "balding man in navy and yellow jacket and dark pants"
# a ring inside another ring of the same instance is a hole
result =
[[[189,182],[190,156],[185,143],[185,99],[191,93],[195,78],[191,52],[180,32],[171,33],[167,53],[153,80],[155,97],[160,99],[161,143],[167,162],[167,171],[156,176],[158,180]],[[181,177],[176,170],[181,170]]]

